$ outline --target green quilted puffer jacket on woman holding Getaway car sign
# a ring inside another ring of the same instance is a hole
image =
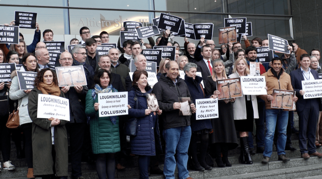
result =
[[[95,102],[92,98],[92,90],[86,94],[87,116],[93,117],[90,120],[90,139],[94,154],[115,153],[121,150],[118,130],[118,120],[114,125],[109,117],[99,117],[99,112],[95,111],[94,103],[98,103],[98,95]]]

